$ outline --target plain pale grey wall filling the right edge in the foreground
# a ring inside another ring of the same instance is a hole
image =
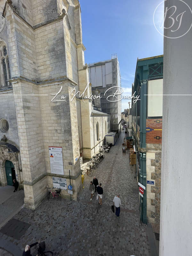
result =
[[[190,0],[185,2],[191,6]],[[169,0],[165,6],[170,8],[175,4],[177,13],[184,11],[181,1]],[[167,16],[170,17],[171,12]],[[165,27],[169,26],[168,20],[165,20]],[[174,36],[185,33],[190,23],[191,12],[188,11],[183,15],[182,31],[178,29]],[[178,22],[172,29],[177,27]],[[170,29],[164,29],[164,35],[172,36]],[[163,94],[192,94],[191,39],[192,29],[179,38],[164,37]],[[163,97],[160,256],[190,256],[192,252],[191,109],[191,96]]]

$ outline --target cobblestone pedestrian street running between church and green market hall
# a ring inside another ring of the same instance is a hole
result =
[[[147,226],[140,223],[138,185],[133,179],[128,151],[122,153],[123,139],[124,133],[93,172],[102,183],[102,206],[96,195],[90,201],[93,176],[85,175],[78,201],[45,200],[35,211],[23,208],[13,218],[30,224],[25,234],[17,240],[0,233],[0,238],[21,250],[26,244],[45,241],[46,249],[57,256],[150,256]],[[117,192],[122,203],[119,218],[111,211]],[[35,250],[31,250],[32,255]]]

